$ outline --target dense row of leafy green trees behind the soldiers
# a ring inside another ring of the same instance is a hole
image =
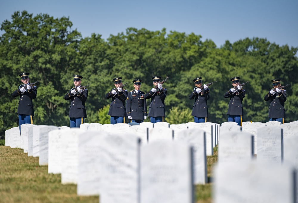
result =
[[[277,45],[267,39],[246,38],[235,43],[228,40],[217,48],[212,40],[201,35],[170,31],[150,31],[127,28],[126,32],[100,34],[83,38],[72,29],[69,18],[53,18],[48,14],[27,11],[14,12],[11,20],[1,23],[0,77],[2,82],[0,136],[18,126],[18,99],[12,92],[21,84],[20,73],[30,73],[30,82],[37,84],[33,101],[36,125],[69,125],[69,101],[64,95],[74,86],[74,74],[83,76],[88,85],[85,122],[109,123],[110,100],[105,94],[114,87],[115,77],[128,82],[125,89],[133,90],[132,81],[142,79],[141,90],[153,87],[151,77],[160,75],[167,89],[166,119],[171,124],[193,121],[190,116],[194,100],[189,95],[193,79],[202,77],[203,84],[218,81],[210,89],[207,122],[227,121],[229,100],[224,93],[232,87],[230,78],[239,76],[246,97],[243,100],[244,121],[267,122],[269,103],[265,94],[272,88],[271,80],[280,78],[287,87],[286,122],[298,119],[298,60],[297,47]],[[149,105],[148,105],[149,106]],[[145,120],[145,121],[149,121]]]

